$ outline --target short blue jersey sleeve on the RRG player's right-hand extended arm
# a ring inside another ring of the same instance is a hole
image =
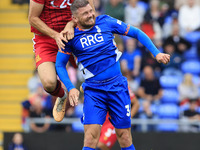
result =
[[[126,24],[110,16],[106,16],[105,21],[112,33],[127,35],[129,32],[130,24]]]

